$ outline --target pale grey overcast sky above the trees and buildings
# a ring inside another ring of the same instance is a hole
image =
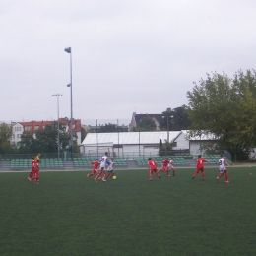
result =
[[[253,0],[0,0],[0,121],[131,120],[255,68]]]

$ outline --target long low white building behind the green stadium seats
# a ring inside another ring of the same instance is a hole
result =
[[[112,156],[156,156],[159,154],[160,139],[167,140],[167,131],[88,133],[80,146],[83,155],[102,155],[105,151]],[[169,131],[169,142],[174,143],[173,151],[190,155],[204,154],[201,145],[217,140],[213,134],[189,137],[189,131]]]

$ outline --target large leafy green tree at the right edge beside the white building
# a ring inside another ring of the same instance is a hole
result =
[[[248,153],[256,142],[256,72],[241,70],[230,79],[226,74],[207,74],[187,92],[191,135],[213,133],[217,149],[234,155]]]

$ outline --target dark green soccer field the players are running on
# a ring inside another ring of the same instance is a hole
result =
[[[205,172],[0,173],[0,255],[256,255],[256,168],[228,168],[229,184]]]

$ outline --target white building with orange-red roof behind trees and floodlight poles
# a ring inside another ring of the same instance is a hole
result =
[[[51,125],[54,121],[31,121],[31,122],[13,122],[12,123],[12,138],[10,143],[16,144],[21,141],[21,136],[24,132],[31,132],[36,138],[36,131],[44,129],[45,125]],[[59,122],[66,124],[66,132],[70,132],[70,120],[67,118],[59,118]],[[73,132],[77,134],[77,143],[81,144],[81,120],[74,119]]]

